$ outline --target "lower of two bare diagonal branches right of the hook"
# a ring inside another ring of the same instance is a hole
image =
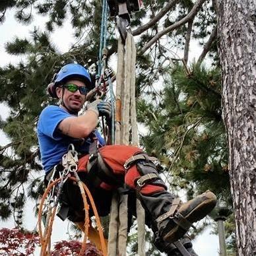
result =
[[[159,40],[165,34],[168,34],[169,32],[175,30],[176,28],[179,28],[183,24],[192,20],[195,17],[195,15],[197,15],[199,9],[202,7],[205,1],[206,0],[198,0],[197,3],[195,3],[193,8],[191,9],[191,11],[184,18],[181,18],[181,20],[177,21],[171,26],[168,26],[167,28],[164,28],[162,31],[158,32],[158,34],[156,34],[156,36],[154,36],[154,38],[152,38],[149,42],[147,42],[146,45],[141,49],[141,54],[144,54],[145,51],[147,51],[148,48],[150,48],[150,46],[152,46],[157,40]]]

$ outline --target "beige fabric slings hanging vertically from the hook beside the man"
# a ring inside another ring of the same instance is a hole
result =
[[[121,38],[119,38],[117,56],[117,86],[115,96],[115,144],[132,144],[137,146],[138,134],[135,100],[136,48],[133,36],[130,33],[127,33],[125,49],[123,48]],[[130,133],[131,140],[129,140]],[[125,256],[127,243],[127,195],[120,195],[119,203],[117,203],[116,200],[117,195],[115,195],[112,199],[112,208],[110,214],[110,232],[108,240],[108,255]],[[118,211],[119,219],[117,219]],[[144,256],[144,209],[138,200],[137,222],[138,255]]]

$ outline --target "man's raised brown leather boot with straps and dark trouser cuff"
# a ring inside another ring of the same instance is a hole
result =
[[[168,191],[161,191],[153,195],[138,197],[152,219],[152,230],[156,238],[168,243],[173,243],[185,235],[187,230],[207,216],[216,205],[216,196],[210,192],[205,193],[181,203]]]

